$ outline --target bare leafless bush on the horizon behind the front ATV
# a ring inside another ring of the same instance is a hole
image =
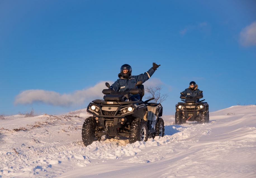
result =
[[[155,103],[162,103],[169,96],[167,93],[161,95],[162,86],[146,87],[145,90],[149,94],[146,98],[147,99],[155,98],[153,100]]]

